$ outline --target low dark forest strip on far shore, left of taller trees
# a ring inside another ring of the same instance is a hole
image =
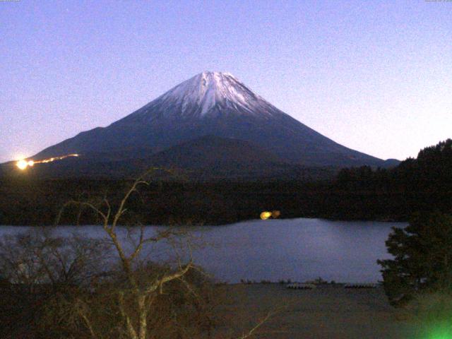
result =
[[[24,180],[1,183],[1,225],[52,225],[66,201],[119,204],[132,184],[108,180]],[[124,223],[226,224],[259,218],[263,210],[281,210],[284,218],[316,217],[327,184],[304,182],[156,182],[134,192]],[[60,224],[97,222],[89,209],[66,209]]]

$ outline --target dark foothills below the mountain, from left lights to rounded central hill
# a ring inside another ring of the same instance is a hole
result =
[[[79,157],[29,167],[25,175],[34,179],[91,178],[134,179],[151,167],[155,178],[197,182],[256,181],[262,179],[329,179],[332,168],[306,168],[284,162],[280,157],[247,141],[218,136],[203,136],[155,153],[150,157],[115,160],[124,156],[86,153]],[[170,172],[167,172],[167,169]],[[23,177],[15,162],[0,165],[3,174]]]

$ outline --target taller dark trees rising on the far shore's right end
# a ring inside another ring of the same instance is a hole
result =
[[[424,148],[393,169],[342,169],[331,192],[345,216],[369,214],[408,220],[415,212],[452,211],[452,140]],[[346,211],[347,210],[347,211]],[[385,212],[386,210],[386,212]]]

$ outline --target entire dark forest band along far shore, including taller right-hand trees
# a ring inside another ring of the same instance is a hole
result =
[[[1,179],[0,179],[1,180]],[[130,186],[124,180],[32,178],[0,181],[0,224],[52,225],[66,201],[113,204]],[[281,218],[405,221],[416,211],[452,210],[452,140],[420,151],[393,169],[342,169],[330,180],[267,182],[160,181],[133,193],[127,222],[225,224],[256,219],[263,210]],[[63,222],[96,220],[69,210]],[[72,221],[71,221],[72,220]]]

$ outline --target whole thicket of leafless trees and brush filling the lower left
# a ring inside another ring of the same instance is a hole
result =
[[[0,241],[1,275],[9,282],[8,288],[27,288],[28,304],[33,305],[32,309],[25,307],[27,317],[20,314],[24,304],[18,305],[18,319],[33,321],[35,331],[45,333],[46,338],[53,338],[53,333],[55,338],[245,339],[258,333],[270,314],[249,331],[241,331],[241,335],[230,335],[229,330],[229,334],[221,332],[217,318],[220,315],[215,308],[222,306],[225,299],[194,264],[189,232],[165,227],[148,233],[138,224],[127,227],[124,236],[121,218],[139,186],[150,184],[145,179],[150,172],[133,182],[115,204],[107,198],[73,200],[61,208],[56,225],[70,206],[78,208],[78,218],[83,210],[93,211],[101,221],[108,244],[103,239],[88,239],[76,233],[57,237],[52,227]],[[175,263],[164,265],[156,257],[153,261],[143,260],[149,253],[148,246],[162,242],[171,244],[177,252]],[[112,262],[107,258],[112,251],[119,260]],[[217,326],[220,331],[215,331]],[[13,337],[21,335],[13,333]]]

